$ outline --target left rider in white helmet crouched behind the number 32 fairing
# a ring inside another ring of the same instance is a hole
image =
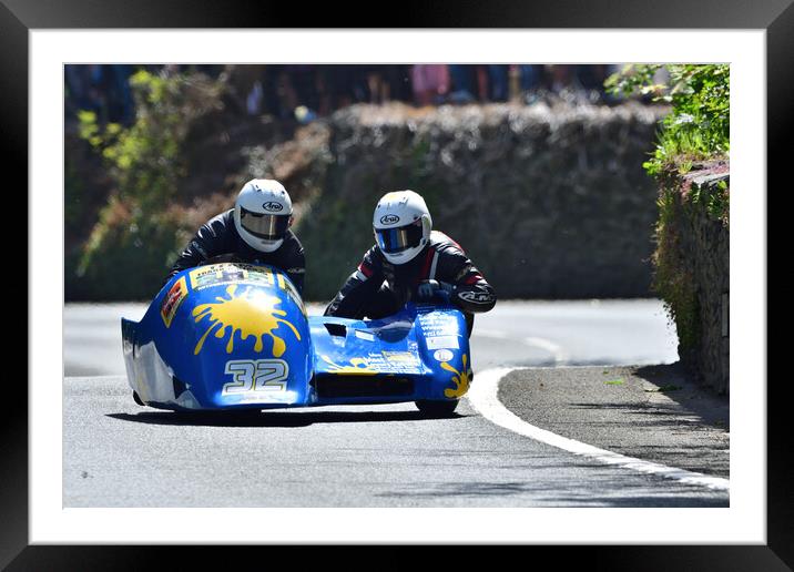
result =
[[[306,261],[301,242],[289,229],[292,223],[293,204],[281,183],[268,178],[248,181],[234,208],[198,229],[167,278],[211,258],[230,255],[238,262],[269,264],[284,270],[303,293]]]

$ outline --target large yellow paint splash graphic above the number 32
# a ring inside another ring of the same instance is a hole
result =
[[[217,303],[202,304],[193,309],[193,318],[196,324],[206,317],[210,318],[208,327],[196,344],[194,355],[198,355],[204,347],[204,340],[213,330],[215,330],[216,338],[223,338],[226,330],[230,330],[226,354],[231,354],[234,349],[234,335],[237,331],[240,331],[242,340],[248,336],[255,336],[254,351],[262,351],[264,349],[262,338],[269,336],[273,339],[274,357],[281,357],[287,348],[284,339],[273,333],[279,329],[282,324],[292,329],[295,337],[301,340],[301,334],[295,326],[277,317],[287,315],[285,310],[276,309],[276,306],[282,303],[281,298],[261,290],[254,290],[251,294],[251,288],[246,289],[243,295],[235,296],[236,290],[237,285],[233,284],[226,288],[228,299],[218,296],[215,298]]]

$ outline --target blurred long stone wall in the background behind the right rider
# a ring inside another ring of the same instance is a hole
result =
[[[501,298],[652,296],[658,190],[642,163],[666,111],[539,102],[337,112],[322,195],[297,228],[311,253],[307,297],[334,295],[373,244],[378,197],[403,188],[426,197],[435,228]]]

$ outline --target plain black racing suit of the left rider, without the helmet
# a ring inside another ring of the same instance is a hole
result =
[[[193,268],[210,258],[221,255],[234,255],[235,259],[244,263],[261,263],[275,266],[284,270],[298,293],[303,294],[306,259],[297,236],[287,229],[284,243],[272,253],[263,253],[252,248],[237,232],[237,227],[234,224],[234,208],[211,218],[198,228],[198,232],[171,267],[167,278],[181,270]]]

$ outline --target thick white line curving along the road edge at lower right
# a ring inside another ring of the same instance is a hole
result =
[[[557,447],[558,449],[596,459],[597,461],[605,464],[614,464],[649,474],[664,477],[666,479],[674,479],[685,484],[696,484],[708,487],[709,489],[724,491],[730,489],[730,481],[727,479],[709,477],[708,474],[700,472],[675,469],[655,462],[625,457],[623,454],[574,441],[573,439],[568,439],[567,437],[561,437],[557,433],[552,433],[551,431],[547,431],[528,423],[517,415],[509,411],[497,397],[499,381],[515,369],[517,368],[496,368],[478,372],[475,376],[475,380],[472,381],[468,394],[466,395],[471,406],[492,423],[537,441]]]

